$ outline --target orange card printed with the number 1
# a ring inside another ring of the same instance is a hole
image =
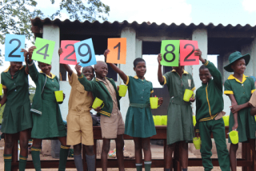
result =
[[[107,49],[107,63],[126,64],[126,38],[108,38]]]

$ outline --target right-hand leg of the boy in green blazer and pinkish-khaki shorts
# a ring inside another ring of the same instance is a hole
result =
[[[119,171],[124,171],[125,168],[123,163],[123,146],[124,146],[123,134],[118,135],[118,137],[115,139],[115,144],[117,147],[118,168],[119,168]]]

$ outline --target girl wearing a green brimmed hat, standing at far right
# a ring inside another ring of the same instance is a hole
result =
[[[224,87],[224,93],[230,97],[230,128],[238,130],[239,142],[249,141],[250,148],[255,157],[255,119],[250,116],[250,96],[254,92],[254,81],[244,75],[246,66],[250,61],[250,54],[242,55],[240,52],[234,52],[229,57],[230,64],[224,69],[228,72],[234,72],[227,78]],[[229,138],[230,142],[230,138]],[[230,145],[230,166],[231,170],[236,170],[236,152],[238,144]]]

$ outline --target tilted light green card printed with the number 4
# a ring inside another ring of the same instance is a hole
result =
[[[54,54],[55,42],[43,38],[36,38],[34,46],[36,46],[37,49],[34,50],[32,59],[38,62],[50,64]]]

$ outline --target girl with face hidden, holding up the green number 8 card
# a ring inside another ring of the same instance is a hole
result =
[[[167,85],[170,93],[170,103],[167,112],[167,146],[165,153],[165,171],[170,171],[172,165],[172,153],[175,145],[182,146],[182,171],[187,170],[188,165],[188,141],[193,141],[194,126],[190,101],[183,101],[185,89],[194,90],[192,75],[183,70],[183,66],[173,66],[171,72],[162,76],[162,66],[160,64],[162,54],[158,54],[158,82]]]

